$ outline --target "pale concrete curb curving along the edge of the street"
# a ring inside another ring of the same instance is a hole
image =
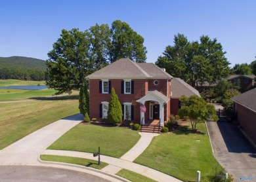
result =
[[[89,170],[91,172],[96,172],[96,173],[101,173],[103,175],[108,175],[110,177],[113,177],[119,181],[124,181],[124,182],[131,182],[129,181],[128,179],[125,179],[123,177],[119,177],[118,175],[114,175],[112,173],[108,173],[108,172],[103,172],[102,170],[97,170],[95,168],[89,168],[89,167],[85,167],[85,166],[80,166],[80,165],[77,165],[77,164],[69,164],[69,163],[64,163],[64,162],[53,162],[53,161],[46,161],[46,160],[41,160],[40,156],[37,157],[37,160],[38,162],[40,162],[41,164],[54,164],[54,165],[57,165],[57,166],[66,166],[66,167],[73,167],[73,168],[79,168],[79,169],[82,169],[82,170]],[[108,164],[109,165],[109,164]],[[55,166],[52,166],[53,168],[56,168]],[[71,169],[70,169],[71,170]],[[75,169],[72,169],[72,170],[75,170]],[[77,170],[79,172],[81,172],[80,170]],[[87,173],[87,172],[85,172]],[[93,175],[93,174],[92,174]]]

